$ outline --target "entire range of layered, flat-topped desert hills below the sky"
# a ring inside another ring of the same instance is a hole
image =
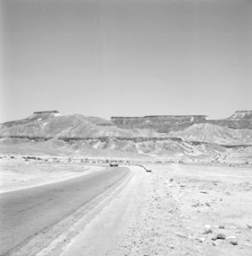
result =
[[[251,111],[239,111],[221,120],[203,115],[106,120],[81,114],[64,116],[58,111],[35,112],[0,125],[0,153],[190,158],[213,158],[230,151],[250,154],[251,116]]]

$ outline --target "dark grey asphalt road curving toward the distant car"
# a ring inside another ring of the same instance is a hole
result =
[[[108,167],[83,177],[0,195],[0,254],[58,223],[127,175]]]

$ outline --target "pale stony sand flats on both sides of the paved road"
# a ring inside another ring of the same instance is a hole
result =
[[[72,172],[79,175],[82,168],[87,172],[97,168],[10,160],[1,167],[2,189],[14,189],[22,179],[26,185],[41,184],[36,182],[40,175],[46,183],[52,182],[49,175],[59,180],[65,174],[72,177]],[[103,201],[99,211],[90,211],[84,224],[80,219],[72,227],[72,238],[62,236],[63,247],[61,242],[57,253],[51,253],[49,246],[38,255],[252,255],[251,168],[185,164],[147,166],[152,172],[130,168],[131,177],[117,193]],[[218,234],[226,239],[215,240]]]

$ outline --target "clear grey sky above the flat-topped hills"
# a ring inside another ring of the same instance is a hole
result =
[[[0,122],[252,109],[250,0],[0,3]]]

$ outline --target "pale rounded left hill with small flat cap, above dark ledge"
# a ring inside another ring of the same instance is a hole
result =
[[[35,112],[31,117],[3,123],[0,137],[89,138],[89,137],[161,137],[155,131],[122,129],[111,121],[96,117],[72,114],[61,116],[52,111]]]

